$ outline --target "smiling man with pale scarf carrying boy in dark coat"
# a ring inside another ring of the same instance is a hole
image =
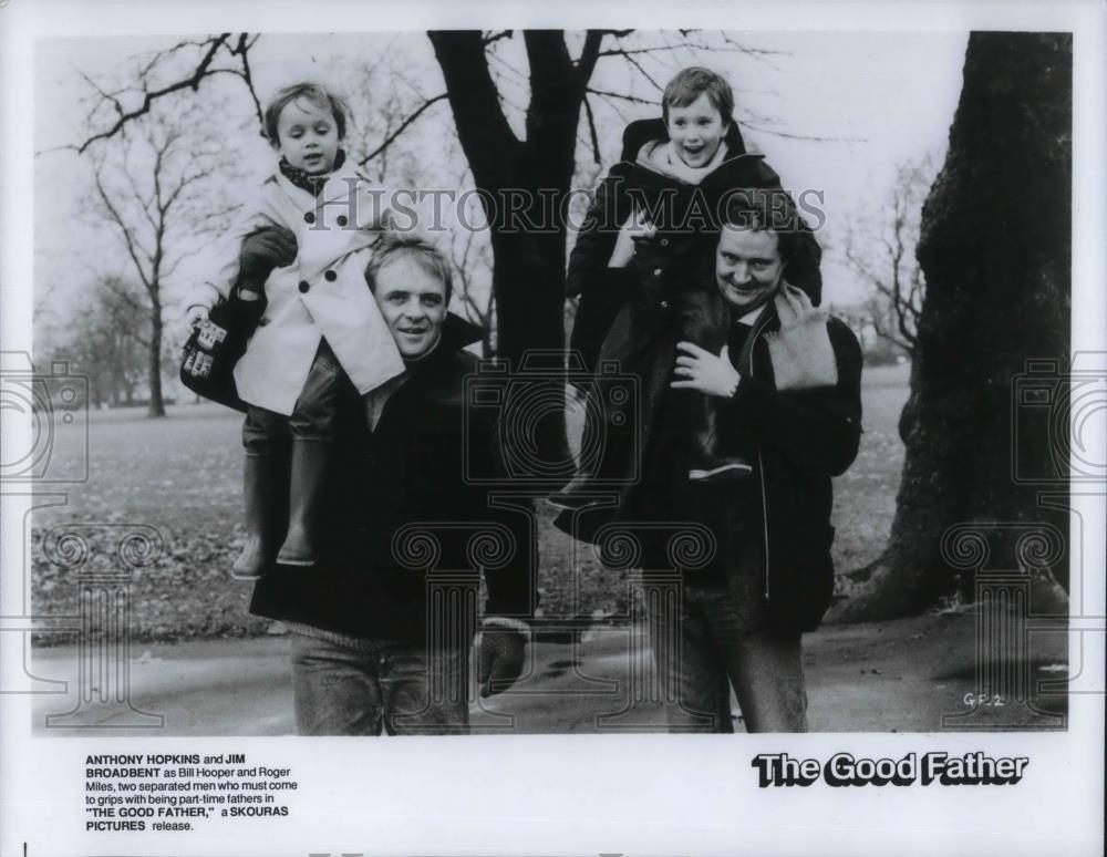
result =
[[[560,520],[601,550],[629,534],[643,568],[682,572],[680,597],[646,592],[674,730],[730,732],[731,688],[747,730],[806,730],[800,637],[834,591],[830,481],[857,455],[861,352],[846,324],[815,311],[787,279],[797,215],[774,215],[764,192],[731,200],[713,275],[701,283],[713,297],[701,306],[723,337],[673,343],[680,355],[650,416],[641,478],[615,507]],[[717,403],[721,431],[753,463],[751,478],[689,482],[681,438],[690,393]],[[682,567],[665,538],[690,524],[711,533],[711,556],[695,568]]]

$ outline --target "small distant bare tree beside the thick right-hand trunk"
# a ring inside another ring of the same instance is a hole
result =
[[[932,158],[899,164],[886,206],[848,226],[846,261],[868,283],[877,335],[914,353],[927,283],[915,248],[922,203],[937,173]]]

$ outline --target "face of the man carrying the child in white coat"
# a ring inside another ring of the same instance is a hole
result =
[[[446,319],[446,286],[410,259],[386,261],[376,272],[376,303],[401,355],[417,358],[438,341]]]

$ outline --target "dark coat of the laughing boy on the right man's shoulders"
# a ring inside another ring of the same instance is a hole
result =
[[[697,279],[706,262],[714,258],[717,242],[720,210],[728,193],[738,188],[780,189],[780,177],[763,155],[746,154],[737,125],[732,121],[724,137],[727,155],[699,185],[691,185],[656,168],[640,163],[642,147],[652,142],[665,142],[665,123],[658,120],[632,122],[623,133],[622,156],[611,167],[596,189],[577,241],[569,256],[567,292],[579,298],[570,348],[582,359],[582,369],[596,368],[603,342],[627,301],[648,301],[659,309],[673,302],[674,291]],[[634,258],[624,268],[610,268],[608,262],[615,246],[620,226],[638,207],[646,211],[658,231],[654,239],[639,245]],[[795,258],[789,261],[788,281],[807,292],[819,304],[823,279],[819,273],[821,250],[806,225],[797,242]],[[644,318],[643,322],[664,323],[664,313]],[[627,348],[650,339],[655,329],[627,331]],[[608,343],[608,357],[619,359],[624,349]],[[634,371],[632,365],[623,366]]]

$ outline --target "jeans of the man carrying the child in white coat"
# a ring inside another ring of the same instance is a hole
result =
[[[293,632],[301,735],[456,735],[469,729],[468,647]]]

